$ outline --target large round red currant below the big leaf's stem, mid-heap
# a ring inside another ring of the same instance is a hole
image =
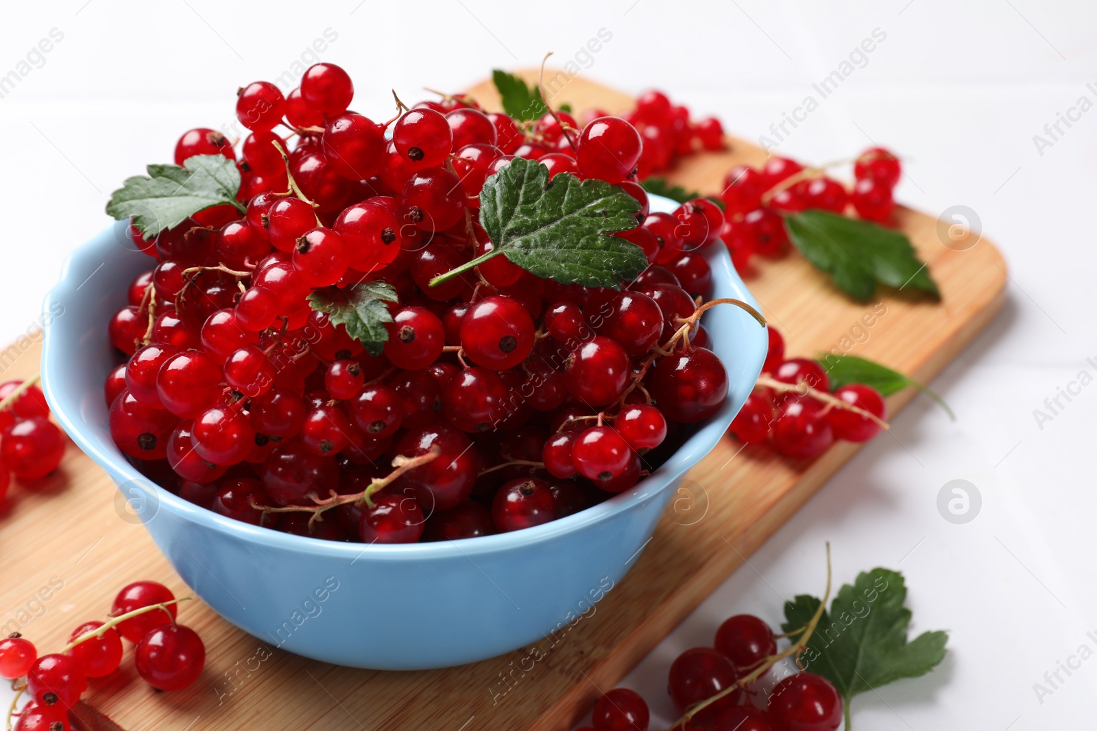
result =
[[[491,295],[468,308],[461,321],[461,346],[476,365],[512,368],[533,350],[533,318],[517,299]]]

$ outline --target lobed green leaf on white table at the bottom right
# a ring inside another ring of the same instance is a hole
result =
[[[801,655],[804,669],[834,684],[845,701],[847,721],[853,696],[925,675],[945,659],[946,632],[923,632],[907,641],[911,610],[905,602],[903,574],[887,569],[862,572],[852,585],[838,590],[807,640]],[[818,605],[819,599],[808,595],[785,602],[784,631],[806,625]]]

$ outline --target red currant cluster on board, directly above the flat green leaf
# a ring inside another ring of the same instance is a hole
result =
[[[761,168],[736,165],[727,172],[720,194],[725,206],[720,237],[737,270],[744,271],[754,254],[777,258],[784,253],[789,236],[782,213],[814,209],[844,214],[852,205],[866,220],[889,220],[895,208],[892,190],[902,175],[898,158],[879,147],[861,152],[853,162],[856,183],[850,191],[825,174],[828,167],[805,168],[788,158],[771,157]]]

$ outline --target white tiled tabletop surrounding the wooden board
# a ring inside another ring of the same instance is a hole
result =
[[[870,138],[896,150],[897,197],[938,215],[970,206],[1005,251],[1005,310],[934,382],[959,421],[919,399],[895,434],[863,449],[648,658],[626,684],[669,722],[666,671],[711,643],[724,617],[777,621],[784,597],[901,569],[913,630],[948,629],[930,676],[855,701],[859,729],[1092,728],[1097,660],[1039,703],[1043,682],[1097,630],[1093,435],[1097,386],[1039,429],[1033,410],[1079,370],[1097,375],[1093,237],[1097,112],[1040,155],[1033,135],[1097,81],[1097,7],[1036,0],[875,2],[226,3],[211,0],[9,3],[0,75],[58,28],[64,39],[0,99],[0,341],[33,327],[61,261],[108,222],[103,205],[146,163],[171,160],[194,126],[231,121],[242,83],[272,78],[325,28],[324,60],[355,78],[354,108],[384,117],[389,89],[460,90],[493,67],[561,62],[612,39],[583,73],[632,92],[667,90],[694,114],[757,138],[800,104],[873,28],[886,39],[780,147],[842,158]],[[1086,455],[1086,456],[1083,456]],[[979,517],[952,525],[936,496],[966,479]],[[2,529],[2,526],[0,526]],[[9,560],[11,557],[9,557]],[[12,570],[9,567],[9,570]],[[659,722],[653,722],[659,728]]]

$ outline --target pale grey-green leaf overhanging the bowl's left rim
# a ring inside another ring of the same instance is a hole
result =
[[[230,205],[245,213],[236,199],[239,190],[235,161],[223,155],[195,155],[183,167],[151,164],[147,178],[127,178],[111,194],[106,213],[118,220],[133,219],[147,238],[213,206]]]

